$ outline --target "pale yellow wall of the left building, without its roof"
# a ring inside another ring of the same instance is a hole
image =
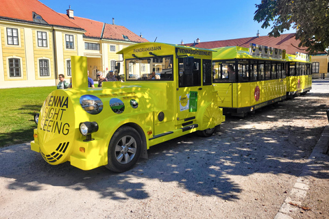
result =
[[[7,27],[18,29],[19,45],[7,43]],[[38,31],[47,34],[47,47],[38,47]],[[66,34],[73,35],[73,49],[66,49]],[[135,44],[84,38],[83,34],[84,31],[62,27],[0,21],[0,88],[56,86],[59,74],[64,74],[66,81],[70,81],[71,75],[68,75],[66,61],[71,60],[71,55],[88,57],[90,76],[96,80],[96,72],[93,73],[95,66],[106,75],[108,70],[111,70],[111,61],[123,60],[122,55],[117,52]],[[99,51],[85,49],[84,42],[98,43]],[[111,45],[115,47],[115,51],[110,50]],[[20,60],[21,77],[10,77],[8,59],[12,57]],[[40,60],[48,60],[49,76],[40,75]],[[123,62],[119,63],[122,74]]]

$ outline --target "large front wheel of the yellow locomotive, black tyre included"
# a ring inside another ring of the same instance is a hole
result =
[[[119,128],[108,145],[108,164],[106,168],[113,172],[130,170],[141,155],[142,140],[136,129]]]

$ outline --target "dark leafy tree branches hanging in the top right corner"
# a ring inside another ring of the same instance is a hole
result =
[[[269,36],[293,28],[298,47],[307,47],[308,53],[329,47],[329,0],[262,0],[256,8],[254,21],[264,29],[272,25]]]

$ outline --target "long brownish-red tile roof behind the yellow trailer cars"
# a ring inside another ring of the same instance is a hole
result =
[[[269,36],[260,36],[260,37],[249,37],[249,38],[239,38],[233,40],[217,40],[209,42],[199,42],[195,44],[195,47],[204,48],[204,49],[214,49],[219,47],[246,47],[249,48],[249,43],[256,43],[264,45],[267,47],[274,47],[277,49],[285,49],[288,54],[295,54],[296,52],[307,53],[306,47],[298,47],[300,43],[299,40],[295,40],[295,34],[281,34],[279,37],[269,37]],[[193,47],[194,43],[185,44],[186,46]]]

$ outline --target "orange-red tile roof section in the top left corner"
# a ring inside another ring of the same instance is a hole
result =
[[[33,12],[42,16],[49,25],[81,29],[71,21],[63,18],[37,0],[1,0],[0,17],[14,18],[21,21],[33,22]]]

